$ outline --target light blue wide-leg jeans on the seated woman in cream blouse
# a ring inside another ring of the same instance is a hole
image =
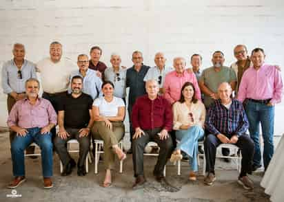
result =
[[[182,150],[190,156],[190,164],[192,171],[198,171],[197,155],[199,152],[199,139],[204,136],[201,126],[191,126],[187,130],[176,131],[176,139],[180,142],[176,145],[176,149]]]

